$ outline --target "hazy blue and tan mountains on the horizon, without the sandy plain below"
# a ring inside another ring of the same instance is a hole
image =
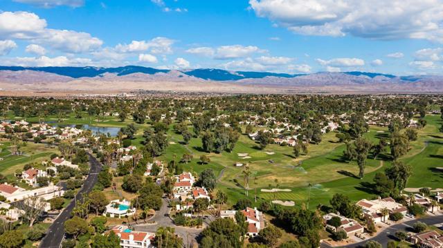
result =
[[[341,90],[364,92],[443,92],[443,76],[395,76],[381,73],[346,72],[287,74],[220,69],[159,70],[143,66],[98,67],[21,67],[0,66],[0,83],[45,84],[52,82],[223,82],[236,86],[260,86],[309,92]],[[222,84],[217,84],[221,86]],[[141,88],[149,88],[141,84]],[[122,86],[123,87],[123,86]],[[254,88],[254,87],[250,87]],[[291,90],[285,90],[286,92]]]

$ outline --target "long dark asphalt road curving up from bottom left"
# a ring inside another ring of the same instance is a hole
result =
[[[91,154],[89,154],[89,164],[91,165],[91,169],[89,171],[88,178],[84,180],[83,187],[78,191],[76,198],[77,200],[82,200],[83,193],[89,193],[94,184],[96,184],[98,179],[98,173],[102,169],[102,164],[96,160]],[[75,207],[75,201],[72,200],[66,209],[60,213],[57,219],[53,222],[51,227],[48,229],[48,233],[43,238],[40,243],[41,248],[59,248],[62,243],[64,237],[64,222],[71,218],[71,211]]]

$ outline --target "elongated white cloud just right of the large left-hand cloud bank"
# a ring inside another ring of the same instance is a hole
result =
[[[165,37],[156,37],[150,41],[132,41],[130,44],[118,44],[116,51],[119,53],[140,53],[150,50],[154,54],[172,53],[174,40]]]

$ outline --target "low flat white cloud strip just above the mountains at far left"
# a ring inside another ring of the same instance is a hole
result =
[[[92,65],[91,59],[59,57],[15,57],[5,59],[3,64],[10,66],[86,66]]]

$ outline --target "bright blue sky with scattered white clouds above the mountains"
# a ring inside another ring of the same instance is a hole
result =
[[[442,74],[443,0],[1,0],[3,65]]]

